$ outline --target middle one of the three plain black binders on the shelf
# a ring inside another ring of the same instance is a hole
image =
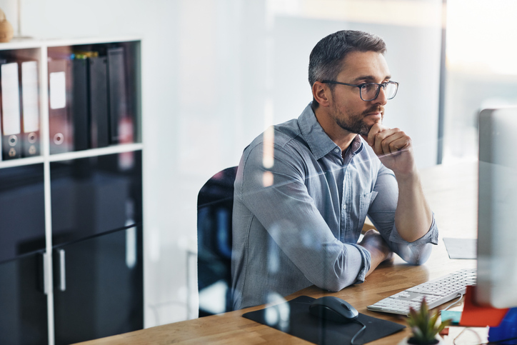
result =
[[[89,58],[91,147],[109,145],[108,76],[106,56]]]

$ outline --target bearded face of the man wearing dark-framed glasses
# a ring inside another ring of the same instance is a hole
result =
[[[353,51],[343,66],[336,78],[342,83],[383,83],[391,78],[386,59],[373,51]],[[331,94],[331,116],[341,129],[367,135],[373,124],[382,121],[387,101],[383,88],[373,101],[363,101],[359,88],[354,86],[336,84]]]

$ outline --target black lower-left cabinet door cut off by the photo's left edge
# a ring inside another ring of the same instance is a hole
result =
[[[47,344],[42,254],[0,264],[0,343]]]

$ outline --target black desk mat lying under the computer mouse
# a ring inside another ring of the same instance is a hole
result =
[[[308,311],[312,301],[312,297],[299,296],[276,306],[250,311],[243,316],[314,344],[350,344],[352,337],[362,326],[319,319]],[[358,320],[366,325],[366,329],[357,336],[355,344],[366,344],[406,328],[401,324],[364,314],[359,314]]]

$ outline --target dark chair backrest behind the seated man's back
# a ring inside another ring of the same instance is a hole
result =
[[[231,214],[237,167],[209,179],[198,194],[199,316],[231,310]]]

